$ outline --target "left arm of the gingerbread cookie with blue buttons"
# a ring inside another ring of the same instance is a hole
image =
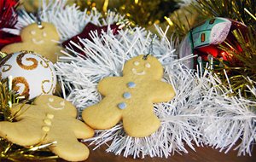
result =
[[[116,86],[119,85],[121,81],[122,78],[120,77],[103,78],[98,84],[97,89],[102,95],[106,96],[115,90]]]

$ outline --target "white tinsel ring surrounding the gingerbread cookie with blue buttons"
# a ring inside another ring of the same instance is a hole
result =
[[[150,33],[138,27],[120,31],[118,36],[114,36],[110,31],[103,33],[100,38],[97,34],[92,36],[94,36],[92,42],[88,39],[80,40],[85,47],[84,54],[88,58],[67,54],[61,56],[60,61],[56,63],[57,73],[65,86],[64,90],[70,92],[67,100],[73,101],[80,111],[102,99],[96,90],[96,85],[102,78],[121,76],[125,61],[136,55],[147,54],[151,42]],[[165,37],[154,40],[152,55],[166,67],[164,81],[173,84],[177,96],[181,96],[154,105],[154,113],[161,120],[160,129],[151,136],[134,138],[125,135],[122,125],[119,124],[110,130],[97,131],[97,135],[90,139],[92,143],[99,147],[113,140],[107,151],[124,153],[125,157],[132,155],[134,158],[145,155],[168,157],[175,151],[187,153],[186,145],[195,149],[192,143],[197,143],[199,128],[189,124],[189,120],[198,119],[198,114],[187,113],[188,107],[183,107],[186,97],[189,96],[189,87],[193,87],[191,84],[195,82],[189,70],[175,60],[177,55],[173,54],[172,47],[172,42],[170,43]],[[178,87],[183,89],[180,90]],[[165,119],[170,116],[173,118],[166,121]]]

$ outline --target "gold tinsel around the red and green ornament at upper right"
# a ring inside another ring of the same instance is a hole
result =
[[[237,49],[236,44],[228,42],[224,45],[220,44],[218,48],[232,55],[230,59],[233,59],[233,63],[215,59],[220,64],[214,65],[211,71],[221,79],[221,85],[231,89],[230,95],[242,95],[255,101],[255,95],[250,90],[256,87],[255,13],[254,0],[196,0],[189,6],[175,11],[166,20],[171,26],[170,33],[174,34],[174,38],[179,41],[183,40],[192,27],[212,17],[224,17],[243,22],[248,28],[247,33],[241,33],[238,29],[231,31],[242,51]]]

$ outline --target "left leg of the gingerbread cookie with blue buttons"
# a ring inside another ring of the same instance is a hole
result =
[[[82,117],[90,127],[106,130],[119,122],[122,113],[114,102],[109,102],[109,98],[105,97],[99,104],[85,108]]]

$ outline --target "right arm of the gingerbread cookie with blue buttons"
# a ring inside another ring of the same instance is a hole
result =
[[[155,83],[151,86],[152,92],[154,92],[152,95],[152,100],[154,103],[170,101],[174,97],[175,91],[173,90],[171,84],[158,80],[155,80],[154,82]]]

